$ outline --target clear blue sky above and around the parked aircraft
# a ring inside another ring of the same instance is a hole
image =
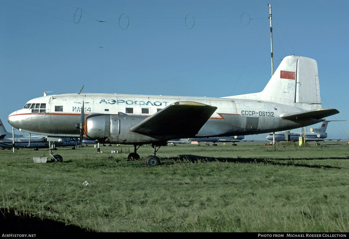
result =
[[[321,0],[0,0],[0,118],[10,131],[7,116],[28,100],[83,85],[85,93],[259,92],[271,77],[267,3],[274,71],[288,55],[315,59],[322,108],[340,111],[327,120],[349,120],[349,3]],[[346,139],[349,121],[327,133]]]

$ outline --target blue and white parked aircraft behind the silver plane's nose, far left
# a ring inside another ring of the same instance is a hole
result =
[[[14,141],[14,144],[13,144]],[[29,143],[30,142],[30,143]],[[61,140],[54,142],[54,147],[64,146],[76,146],[79,144],[79,140],[75,140],[71,137],[64,137]],[[83,140],[83,144],[95,144],[93,140]],[[5,148],[49,148],[49,142],[47,142],[47,136],[35,135],[31,137],[22,136],[18,134],[12,134],[7,132],[5,126],[3,126],[0,119],[0,147]]]

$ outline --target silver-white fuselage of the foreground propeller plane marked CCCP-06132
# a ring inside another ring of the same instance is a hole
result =
[[[23,109],[8,116],[10,125],[24,132],[47,136],[79,137],[81,108],[84,102],[84,116],[89,114],[128,115],[127,122],[120,116],[120,137],[109,140],[111,143],[132,144],[134,142],[153,142],[183,138],[179,136],[143,136],[130,132],[130,126],[144,117],[178,101],[195,101],[216,106],[217,109],[196,135],[187,137],[242,136],[248,134],[269,133],[312,125],[324,119],[284,120],[280,115],[304,111],[304,109],[278,103],[256,100],[207,97],[171,97],[157,95],[126,94],[61,94],[32,99]],[[133,118],[134,121],[131,119]],[[122,125],[124,124],[124,126]],[[106,141],[108,142],[108,140]]]

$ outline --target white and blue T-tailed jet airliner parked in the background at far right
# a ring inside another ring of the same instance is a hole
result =
[[[337,121],[337,120],[325,120],[322,122],[321,126],[319,128],[310,128],[310,132],[306,133],[306,141],[315,141],[316,145],[320,145],[319,141],[324,141],[325,138],[327,138],[327,124],[331,121]],[[287,131],[286,131],[287,132]],[[299,137],[301,137],[300,132],[288,132],[289,141],[299,141]],[[267,139],[273,140],[273,133],[270,133],[267,136]],[[275,132],[275,141],[286,141],[285,132]],[[328,140],[340,140],[340,139],[328,139]]]

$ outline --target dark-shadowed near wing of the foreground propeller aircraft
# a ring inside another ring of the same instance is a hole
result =
[[[179,101],[135,124],[130,130],[140,134],[195,135],[216,109],[203,103]]]

